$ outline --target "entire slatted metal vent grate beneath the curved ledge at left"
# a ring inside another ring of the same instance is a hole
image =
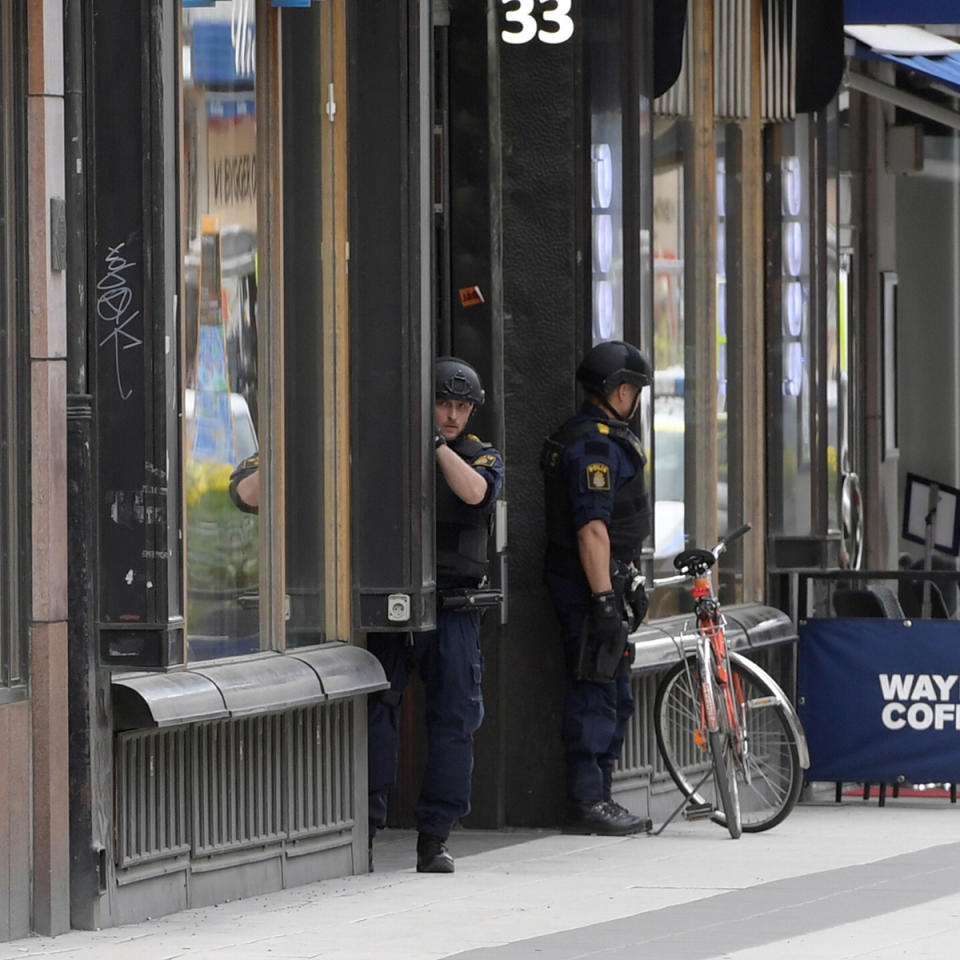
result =
[[[209,857],[353,825],[352,702],[117,735],[116,863]]]

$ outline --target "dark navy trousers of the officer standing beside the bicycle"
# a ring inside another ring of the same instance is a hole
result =
[[[563,701],[563,746],[567,799],[594,803],[610,799],[613,766],[623,749],[627,722],[633,716],[630,676],[610,683],[577,679],[580,634],[590,614],[591,598],[581,585],[547,574],[547,589],[560,621],[566,665]]]

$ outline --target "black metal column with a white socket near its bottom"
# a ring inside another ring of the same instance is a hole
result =
[[[434,623],[430,4],[348,10],[354,624]]]

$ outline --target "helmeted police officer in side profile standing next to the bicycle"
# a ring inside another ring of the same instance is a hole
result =
[[[628,630],[646,613],[637,574],[650,532],[644,455],[628,426],[653,371],[634,346],[593,347],[577,368],[579,412],[544,444],[545,580],[566,659],[563,741],[567,833],[650,829],[611,792],[613,767],[633,713]]]

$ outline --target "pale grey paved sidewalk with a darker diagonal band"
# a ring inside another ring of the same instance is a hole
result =
[[[112,930],[0,944],[0,960],[946,958],[960,942],[960,806],[803,804],[733,841],[456,831],[457,872],[413,869],[387,831],[376,872]]]

